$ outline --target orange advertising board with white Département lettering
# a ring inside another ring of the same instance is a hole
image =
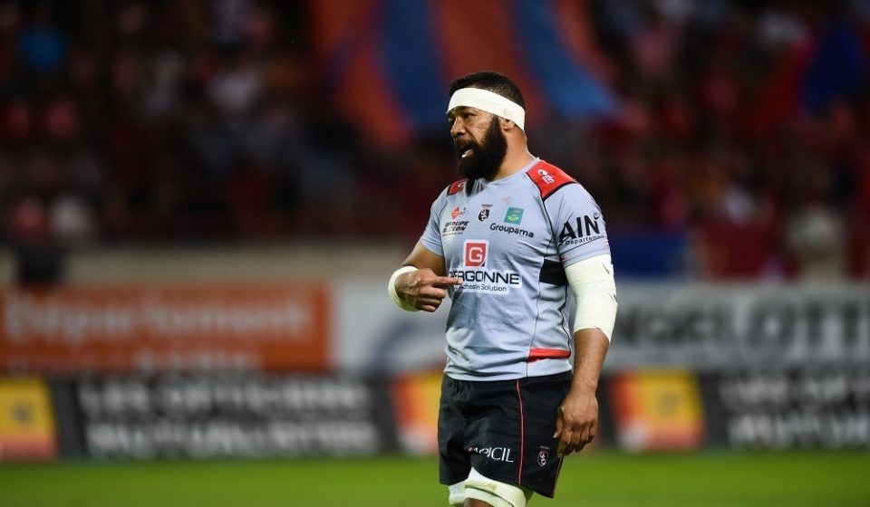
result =
[[[0,370],[330,368],[324,284],[67,286],[0,292]]]

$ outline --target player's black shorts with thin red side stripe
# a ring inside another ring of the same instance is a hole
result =
[[[562,458],[556,455],[556,410],[571,372],[515,380],[444,376],[438,416],[440,483],[455,484],[473,466],[489,479],[553,497]]]

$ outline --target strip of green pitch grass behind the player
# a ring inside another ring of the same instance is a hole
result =
[[[445,507],[434,458],[0,464],[3,507]],[[870,453],[590,452],[541,507],[868,507]]]

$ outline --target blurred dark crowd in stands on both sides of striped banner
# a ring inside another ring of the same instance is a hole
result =
[[[709,279],[870,277],[870,2],[588,9],[619,112],[530,146],[614,238],[687,238]],[[368,142],[316,29],[304,2],[0,0],[5,243],[415,241],[447,129]]]

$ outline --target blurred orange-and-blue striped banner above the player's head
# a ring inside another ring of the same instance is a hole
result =
[[[314,45],[326,92],[383,142],[444,125],[447,88],[478,70],[523,90],[534,126],[546,115],[613,114],[595,71],[585,5],[564,0],[312,2]]]

